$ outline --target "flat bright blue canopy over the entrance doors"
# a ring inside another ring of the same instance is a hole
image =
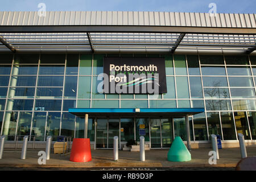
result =
[[[204,112],[204,108],[69,108],[69,113],[78,117],[175,117],[194,115]]]

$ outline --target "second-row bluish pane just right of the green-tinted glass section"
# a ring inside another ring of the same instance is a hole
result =
[[[189,77],[191,98],[203,98],[201,77]]]

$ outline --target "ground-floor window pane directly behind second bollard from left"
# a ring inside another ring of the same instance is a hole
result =
[[[32,112],[20,112],[19,113],[19,122],[16,135],[30,135],[30,126],[31,126]]]

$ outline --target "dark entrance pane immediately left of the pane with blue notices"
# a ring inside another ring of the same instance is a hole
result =
[[[121,142],[134,140],[134,118],[121,118]]]

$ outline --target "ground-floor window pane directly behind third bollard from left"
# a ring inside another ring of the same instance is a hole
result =
[[[59,136],[60,134],[60,113],[48,113],[46,136]],[[57,138],[54,137],[53,140]]]

